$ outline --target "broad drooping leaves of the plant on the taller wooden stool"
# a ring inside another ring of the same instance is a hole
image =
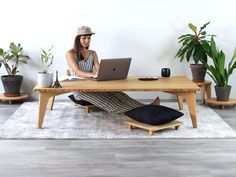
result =
[[[182,43],[182,46],[178,50],[175,57],[178,57],[180,62],[182,62],[185,58],[189,62],[191,57],[193,58],[195,64],[198,64],[201,60],[207,62],[207,55],[202,47],[202,43],[209,42],[206,40],[207,36],[214,36],[207,35],[206,31],[204,31],[209,23],[210,22],[200,27],[198,32],[197,27],[192,23],[189,23],[188,27],[194,34],[184,34],[178,37],[178,43]]]

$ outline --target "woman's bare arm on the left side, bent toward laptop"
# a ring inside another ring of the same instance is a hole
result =
[[[94,73],[88,73],[88,72],[84,72],[80,70],[78,64],[75,61],[74,53],[71,50],[66,52],[66,60],[70,68],[76,73],[78,77],[96,77],[97,76]]]

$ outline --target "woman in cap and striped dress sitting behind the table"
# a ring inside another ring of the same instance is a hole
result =
[[[66,53],[66,59],[73,75],[83,78],[97,77],[99,70],[97,53],[89,50],[93,34],[95,33],[87,26],[78,28],[74,48]],[[114,113],[123,113],[144,105],[123,92],[74,92],[69,98],[76,103],[92,103],[101,109]],[[152,102],[152,104],[159,103],[159,98]]]

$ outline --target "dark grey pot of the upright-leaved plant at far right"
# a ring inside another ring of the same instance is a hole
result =
[[[228,101],[231,91],[231,86],[215,86],[216,100],[217,101]]]

